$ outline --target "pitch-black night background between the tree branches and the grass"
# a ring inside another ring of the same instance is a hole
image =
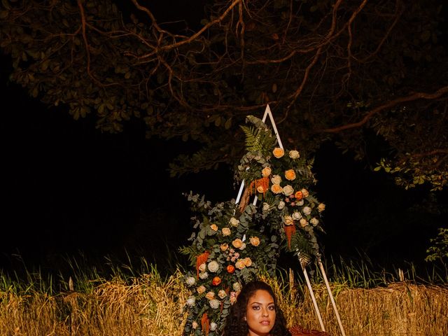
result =
[[[190,13],[190,26],[200,14]],[[193,230],[182,193],[236,197],[229,167],[169,178],[168,163],[190,151],[189,144],[144,139],[137,123],[125,125],[123,134],[102,134],[93,118],[75,121],[63,107],[28,97],[8,83],[9,71],[2,56],[0,268],[14,267],[17,254],[31,265],[57,267],[63,255],[123,256],[125,249],[158,261],[188,244]],[[325,255],[354,258],[365,251],[381,264],[421,262],[446,218],[412,211],[426,207],[425,188],[406,192],[364,166],[332,144],[316,153],[316,192],[327,204]],[[447,203],[446,191],[440,200]]]

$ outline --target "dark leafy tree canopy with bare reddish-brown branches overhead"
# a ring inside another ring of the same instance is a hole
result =
[[[361,160],[381,144],[377,169],[398,184],[446,185],[441,1],[203,0],[200,25],[160,22],[160,4],[120,6],[3,0],[11,80],[74,119],[94,116],[104,132],[134,121],[147,137],[201,144],[173,174],[235,164],[239,124],[269,104],[282,138],[300,151],[333,141]]]

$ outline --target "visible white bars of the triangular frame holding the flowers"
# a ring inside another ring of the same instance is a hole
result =
[[[274,117],[272,116],[272,112],[271,112],[271,109],[269,108],[269,104],[266,105],[265,114],[263,115],[263,118],[262,118],[262,122],[263,123],[265,123],[265,120],[266,120],[267,116],[269,116],[269,120],[271,121],[272,129],[274,130],[275,136],[276,136],[277,141],[279,143],[279,147],[281,149],[283,149],[283,144],[281,143],[279,131],[277,130],[277,127],[275,125]],[[244,181],[241,181],[241,186],[239,186],[237,200],[235,201],[236,204],[238,204],[239,201],[241,200],[241,195],[242,195],[243,191],[244,191]],[[255,197],[253,199],[253,205],[255,205],[257,203],[257,201],[258,201],[258,197],[255,195]],[[297,256],[298,256],[299,261],[300,261],[300,267],[302,267],[302,272],[303,272],[304,278],[307,281],[309,294],[311,295],[311,300],[312,300],[312,302],[314,304],[314,310],[316,311],[316,315],[317,315],[319,324],[321,325],[321,330],[325,331],[325,326],[323,325],[321,311],[318,309],[318,305],[317,305],[317,302],[316,302],[316,297],[314,295],[314,291],[313,291],[313,288],[311,287],[311,282],[309,281],[309,276],[307,274],[307,269],[306,269],[307,262],[302,262],[302,258],[300,256],[300,253],[298,253]],[[321,255],[317,256],[317,263],[318,263],[319,269],[321,269],[321,274],[322,274],[323,279],[325,281],[325,287],[327,288],[328,295],[330,296],[330,301],[331,301],[331,304],[332,304],[332,308],[335,311],[335,315],[336,315],[336,318],[337,318],[337,323],[339,324],[339,330],[341,330],[342,336],[345,336],[344,327],[342,326],[341,318],[339,316],[339,312],[337,311],[335,298],[332,295],[330,284],[328,283],[327,275],[325,274],[325,269],[324,269],[322,261],[321,261]]]

